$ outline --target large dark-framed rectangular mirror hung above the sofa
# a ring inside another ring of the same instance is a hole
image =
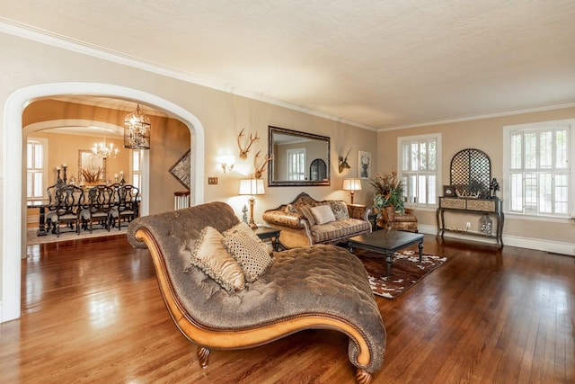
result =
[[[272,156],[268,169],[268,185],[273,186],[313,186],[330,185],[330,138],[300,132],[292,129],[268,127],[268,153]],[[305,148],[304,172],[306,180],[288,180],[287,176],[287,149]],[[312,162],[320,158],[327,167],[323,180],[310,180],[308,170]]]

